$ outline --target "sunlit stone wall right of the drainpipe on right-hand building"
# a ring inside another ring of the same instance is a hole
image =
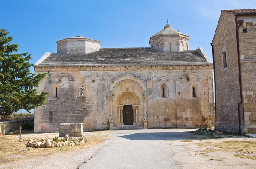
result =
[[[240,18],[246,19],[248,18]],[[239,27],[239,49],[244,108],[244,132],[256,133],[256,17]],[[243,33],[247,29],[247,33]]]

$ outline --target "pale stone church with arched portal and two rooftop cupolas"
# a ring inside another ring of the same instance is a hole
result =
[[[101,48],[81,36],[57,42],[35,73],[48,72],[39,90],[50,93],[35,109],[35,132],[60,123],[84,130],[212,127],[212,63],[202,48],[167,24],[150,47]]]

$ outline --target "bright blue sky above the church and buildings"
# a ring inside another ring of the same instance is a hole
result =
[[[166,25],[187,34],[189,49],[210,43],[223,9],[256,8],[255,0],[2,0],[0,28],[7,29],[36,63],[56,53],[56,41],[82,35],[102,47],[149,47]]]

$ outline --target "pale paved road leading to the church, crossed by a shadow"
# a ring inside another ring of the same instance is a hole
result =
[[[181,169],[169,141],[191,135],[180,129],[114,131],[110,140],[78,169]]]

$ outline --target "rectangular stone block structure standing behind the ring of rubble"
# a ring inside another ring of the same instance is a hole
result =
[[[59,126],[59,137],[81,137],[83,134],[83,123],[63,123]]]

